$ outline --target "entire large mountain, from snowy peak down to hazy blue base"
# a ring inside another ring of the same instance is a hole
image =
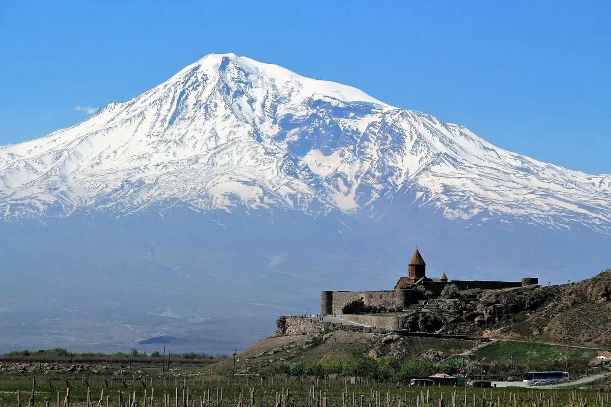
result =
[[[611,265],[610,175],[233,54],[0,147],[0,214],[0,351],[232,352],[321,290],[392,289],[417,244],[450,279]]]

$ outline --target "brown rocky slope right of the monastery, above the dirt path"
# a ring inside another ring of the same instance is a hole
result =
[[[412,331],[611,347],[611,270],[563,286],[471,290],[404,317]]]

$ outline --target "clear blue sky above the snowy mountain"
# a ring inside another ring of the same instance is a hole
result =
[[[611,173],[611,1],[0,0],[0,144],[233,52]]]

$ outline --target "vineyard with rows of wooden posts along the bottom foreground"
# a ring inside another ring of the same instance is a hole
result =
[[[410,386],[354,378],[23,375],[0,377],[1,407],[606,407],[592,389]]]

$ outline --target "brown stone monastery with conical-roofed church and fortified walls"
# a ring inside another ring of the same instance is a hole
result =
[[[414,255],[409,260],[408,276],[401,277],[393,290],[385,291],[323,291],[320,295],[321,315],[342,314],[342,308],[355,300],[363,300],[365,305],[384,306],[387,308],[409,307],[418,302],[418,286],[429,290],[431,297],[437,298],[448,284],[454,284],[459,290],[484,289],[500,290],[505,288],[530,286],[539,284],[536,277],[524,277],[522,281],[449,281],[445,272],[439,278],[426,276],[426,263],[416,247]]]

